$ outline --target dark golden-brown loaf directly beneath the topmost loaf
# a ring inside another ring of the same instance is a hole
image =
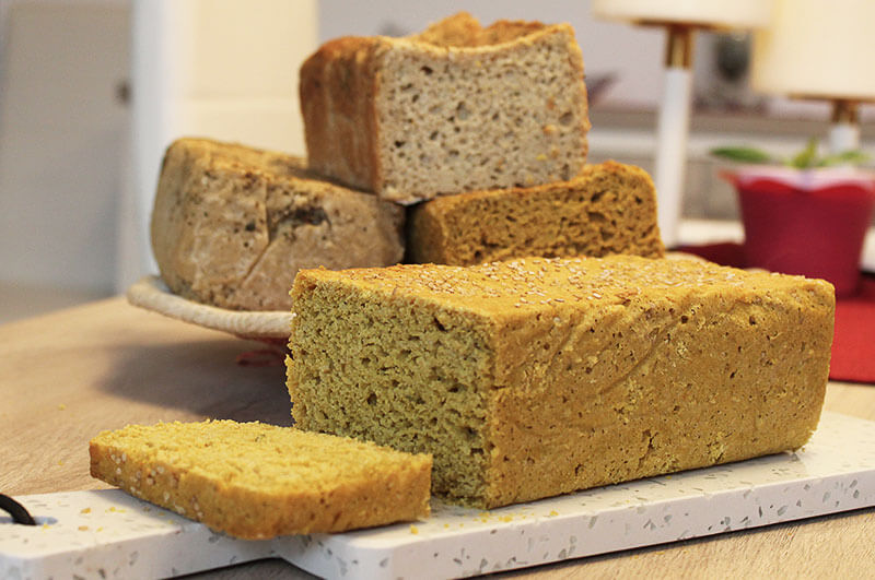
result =
[[[433,199],[408,215],[407,259],[469,265],[526,256],[664,253],[650,176],[587,165],[570,181]]]

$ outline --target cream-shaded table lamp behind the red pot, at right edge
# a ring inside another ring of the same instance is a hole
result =
[[[754,36],[755,90],[832,103],[831,153],[860,147],[860,103],[875,100],[875,2],[777,0]]]

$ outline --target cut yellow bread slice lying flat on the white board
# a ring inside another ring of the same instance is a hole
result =
[[[213,530],[259,540],[429,514],[431,458],[260,423],[129,425],[91,474]]]

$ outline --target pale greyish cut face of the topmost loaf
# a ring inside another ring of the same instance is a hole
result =
[[[381,197],[410,203],[578,175],[588,130],[580,49],[563,27],[526,39],[452,58],[412,43],[383,52]]]

